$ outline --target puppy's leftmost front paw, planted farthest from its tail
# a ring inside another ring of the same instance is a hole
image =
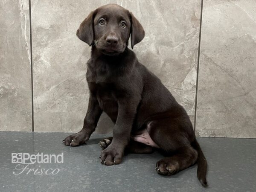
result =
[[[77,145],[85,144],[89,140],[89,136],[86,136],[84,133],[79,132],[73,135],[66,137],[62,140],[63,145],[70,145],[72,147]]]

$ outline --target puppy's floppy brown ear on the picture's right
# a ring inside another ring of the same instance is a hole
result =
[[[145,36],[145,31],[140,22],[134,17],[134,15],[130,12],[131,15],[131,48],[133,49],[134,45],[140,43]]]

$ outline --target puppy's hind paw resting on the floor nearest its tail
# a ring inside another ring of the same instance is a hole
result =
[[[178,164],[164,158],[157,162],[156,171],[160,175],[174,175],[178,172]]]

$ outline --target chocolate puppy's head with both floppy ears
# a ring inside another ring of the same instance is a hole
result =
[[[108,4],[91,12],[76,32],[79,39],[94,45],[105,55],[124,52],[131,35],[131,47],[143,40],[140,22],[127,9]]]

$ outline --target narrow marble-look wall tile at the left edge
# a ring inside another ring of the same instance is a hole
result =
[[[0,131],[32,131],[29,1],[0,1]]]

